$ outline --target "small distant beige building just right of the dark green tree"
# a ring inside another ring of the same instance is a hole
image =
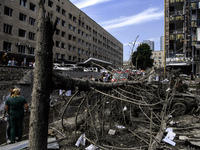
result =
[[[164,67],[164,51],[152,51],[153,66],[156,68]]]

